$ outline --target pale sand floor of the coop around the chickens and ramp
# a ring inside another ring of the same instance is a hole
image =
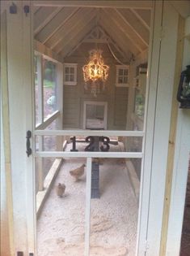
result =
[[[112,145],[111,150],[118,151],[120,146]],[[37,256],[84,255],[86,172],[78,182],[69,172],[82,163],[85,158],[64,159],[37,221]],[[91,199],[90,255],[134,256],[138,205],[124,161],[103,158],[99,179],[101,196]],[[64,197],[57,197],[58,182],[66,185]]]

